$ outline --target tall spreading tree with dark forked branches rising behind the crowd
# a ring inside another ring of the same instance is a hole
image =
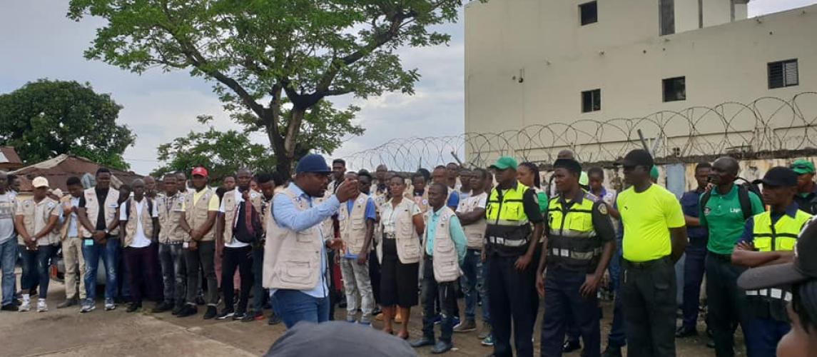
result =
[[[266,133],[278,171],[287,175],[304,149],[315,148],[301,136],[315,105],[328,96],[412,94],[419,74],[404,69],[395,51],[447,42],[449,35],[429,27],[456,20],[461,5],[462,0],[71,0],[69,17],[106,20],[85,53],[89,59],[136,73],[190,69],[215,81],[225,109],[248,131]],[[333,110],[335,118],[353,118],[355,112]],[[321,127],[324,120],[313,124]]]

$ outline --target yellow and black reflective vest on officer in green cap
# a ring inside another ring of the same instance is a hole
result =
[[[530,239],[530,225],[525,215],[523,197],[528,186],[516,183],[516,187],[500,192],[491,190],[485,207],[485,240],[489,252],[502,256],[525,254]]]

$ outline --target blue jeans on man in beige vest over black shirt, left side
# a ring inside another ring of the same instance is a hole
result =
[[[86,245],[92,242],[92,245]],[[105,244],[92,239],[83,239],[83,256],[85,257],[85,296],[89,301],[96,298],[96,270],[100,258],[105,264],[105,300],[116,297],[118,282],[116,278],[119,262],[119,239],[109,238]]]

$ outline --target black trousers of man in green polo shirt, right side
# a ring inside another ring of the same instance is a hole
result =
[[[708,252],[706,270],[708,323],[715,342],[715,355],[732,357],[735,328],[740,324],[744,332],[747,329],[748,301],[743,290],[738,288],[738,276],[746,268],[732,265],[728,255]]]

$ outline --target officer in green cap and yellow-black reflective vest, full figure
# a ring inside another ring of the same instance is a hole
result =
[[[498,185],[489,194],[485,208],[485,254],[493,319],[493,355],[513,355],[511,321],[516,355],[534,355],[531,294],[534,269],[530,266],[538,239],[542,236],[542,213],[536,192],[516,181],[516,160],[502,157],[491,165]],[[533,223],[533,229],[531,229]],[[532,232],[533,231],[533,232]],[[531,234],[533,233],[533,234]]]

